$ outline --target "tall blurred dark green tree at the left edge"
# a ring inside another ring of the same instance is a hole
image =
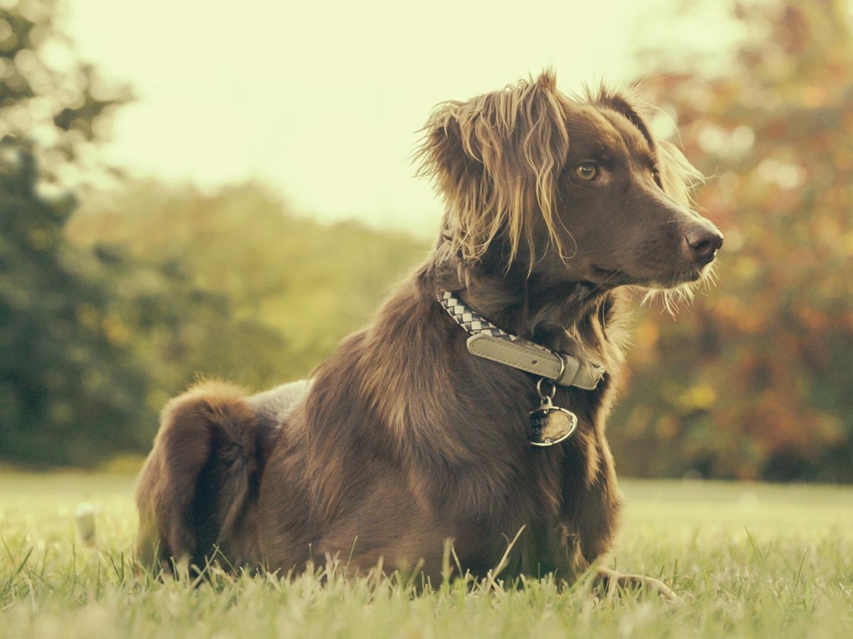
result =
[[[145,377],[103,313],[107,289],[63,231],[67,187],[128,94],[70,57],[56,8],[0,6],[0,459],[93,463],[140,448],[150,417],[138,411]]]

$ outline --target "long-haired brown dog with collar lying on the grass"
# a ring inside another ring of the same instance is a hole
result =
[[[620,510],[605,422],[626,291],[689,292],[722,245],[691,208],[698,172],[630,97],[569,97],[553,72],[439,105],[416,157],[446,204],[426,262],[309,381],[202,382],[165,406],[140,561],[339,557],[434,581],[452,543],[474,577],[591,571],[671,596],[596,568]]]

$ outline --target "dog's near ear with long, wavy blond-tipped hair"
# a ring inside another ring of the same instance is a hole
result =
[[[419,173],[431,177],[444,197],[445,225],[464,258],[483,256],[501,234],[510,262],[521,249],[532,263],[547,248],[534,242],[540,221],[560,250],[556,187],[569,148],[563,100],[554,74],[545,72],[432,112]]]

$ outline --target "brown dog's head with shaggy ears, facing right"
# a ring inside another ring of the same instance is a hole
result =
[[[573,100],[546,72],[439,105],[425,131],[421,175],[465,261],[499,247],[549,279],[665,289],[700,279],[722,245],[690,208],[699,173],[622,95]]]

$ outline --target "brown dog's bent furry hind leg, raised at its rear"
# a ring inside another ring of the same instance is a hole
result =
[[[171,400],[136,487],[142,566],[257,563],[258,486],[277,424],[241,389],[202,382]]]

